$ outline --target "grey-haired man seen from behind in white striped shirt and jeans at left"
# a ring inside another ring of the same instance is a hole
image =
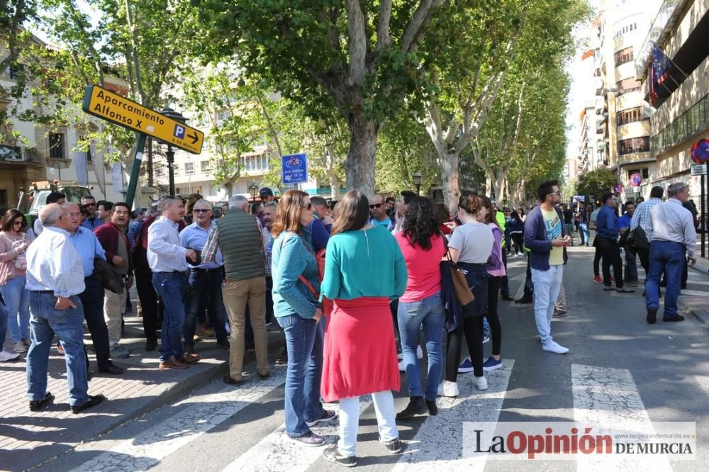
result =
[[[89,395],[84,357],[84,291],[82,257],[69,240],[69,219],[62,207],[51,203],[40,210],[44,227],[27,250],[27,284],[30,291],[30,334],[27,354],[27,393],[30,410],[38,411],[54,397],[47,391],[47,367],[54,336],[64,347],[69,383],[69,404],[79,413],[105,400]]]

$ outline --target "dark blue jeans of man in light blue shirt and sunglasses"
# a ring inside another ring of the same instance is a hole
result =
[[[218,341],[226,341],[224,320],[226,310],[221,293],[221,283],[224,271],[222,269],[200,270],[189,269],[189,285],[192,293],[185,303],[184,318],[184,344],[194,345],[194,330],[198,316],[204,313],[204,308],[209,310],[209,319],[212,320],[214,332]]]

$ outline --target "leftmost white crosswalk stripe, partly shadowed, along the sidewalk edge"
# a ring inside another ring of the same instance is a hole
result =
[[[172,406],[194,405],[119,443],[74,471],[146,471],[278,388],[285,380],[285,367],[274,367],[271,377],[265,381],[250,380],[238,388],[225,386],[217,393],[185,398]]]

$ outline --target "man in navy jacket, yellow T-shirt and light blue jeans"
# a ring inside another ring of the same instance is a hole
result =
[[[532,283],[534,283],[534,317],[542,349],[554,354],[566,354],[569,349],[552,339],[552,316],[564,277],[566,246],[571,237],[564,228],[564,215],[557,205],[562,201],[557,181],[540,185],[539,206],[525,220],[525,247],[530,249]]]

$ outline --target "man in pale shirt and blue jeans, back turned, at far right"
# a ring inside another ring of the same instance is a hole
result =
[[[664,298],[663,321],[682,321],[677,313],[679,284],[687,257],[691,265],[696,264],[697,232],[692,214],[682,206],[689,198],[689,186],[676,182],[667,189],[667,201],[650,211],[650,219],[645,227],[650,242],[650,271],[645,285],[645,308],[647,322],[657,320],[659,309],[660,277],[666,273],[667,290]]]

